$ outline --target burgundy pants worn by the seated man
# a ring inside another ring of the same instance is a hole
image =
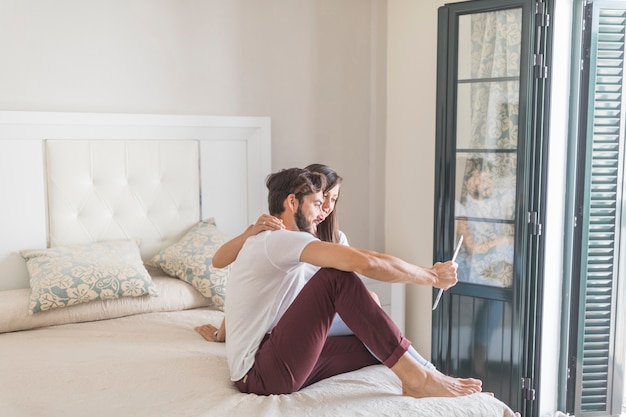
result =
[[[354,336],[328,337],[335,313]],[[304,286],[235,384],[241,392],[289,394],[314,382],[380,363],[392,367],[411,342],[354,273],[320,269]]]

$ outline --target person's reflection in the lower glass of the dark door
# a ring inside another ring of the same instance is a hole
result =
[[[457,234],[463,246],[457,258],[459,280],[510,287],[513,277],[514,187],[497,187],[493,168],[483,158],[467,160],[460,201],[456,203]]]

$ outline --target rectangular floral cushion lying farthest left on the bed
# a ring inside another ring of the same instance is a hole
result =
[[[119,297],[156,296],[132,240],[22,250],[30,274],[30,313]]]

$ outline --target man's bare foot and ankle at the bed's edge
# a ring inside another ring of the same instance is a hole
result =
[[[420,365],[408,353],[391,368],[402,381],[402,394],[415,398],[460,397],[482,391],[482,381],[454,378]]]

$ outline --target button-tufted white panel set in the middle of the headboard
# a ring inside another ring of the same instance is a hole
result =
[[[142,256],[200,220],[199,145],[167,140],[48,140],[50,246],[137,239]]]

